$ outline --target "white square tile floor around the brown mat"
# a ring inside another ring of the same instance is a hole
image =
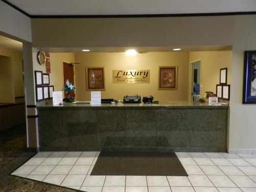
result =
[[[88,192],[256,192],[256,155],[176,154],[188,177],[91,176],[99,152],[39,152],[12,175]]]

